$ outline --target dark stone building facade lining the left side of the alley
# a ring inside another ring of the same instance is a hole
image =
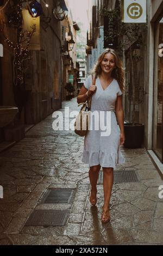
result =
[[[5,8],[3,2],[1,6],[0,105],[16,106],[18,114],[12,124],[0,129],[0,141],[23,138],[25,130],[61,108],[67,95],[65,86],[70,80],[76,88],[74,96],[77,95],[76,31],[79,27],[73,22],[70,9],[63,21],[54,16],[53,11],[60,8],[59,1],[38,2],[42,11],[36,17],[30,15],[27,3],[22,4],[20,0],[9,1]],[[32,31],[29,40],[28,33]],[[71,38],[72,51],[68,44]]]

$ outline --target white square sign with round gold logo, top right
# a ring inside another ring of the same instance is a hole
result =
[[[147,6],[146,0],[123,0],[122,22],[124,23],[146,23]]]

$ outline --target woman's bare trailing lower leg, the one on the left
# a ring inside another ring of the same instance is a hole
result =
[[[91,184],[91,195],[90,195],[90,202],[92,205],[96,204],[96,194],[97,194],[97,181],[98,181],[98,174],[101,166],[91,166],[89,170],[89,178]]]

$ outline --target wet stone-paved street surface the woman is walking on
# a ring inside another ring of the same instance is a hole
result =
[[[64,107],[77,109],[76,99]],[[162,179],[146,150],[122,149],[126,163],[117,170],[135,170],[139,182],[114,184],[111,222],[101,223],[103,186],[98,185],[97,207],[89,202],[83,138],[73,131],[53,131],[52,116],[35,125],[26,138],[0,156],[1,245],[163,245]],[[48,205],[38,201],[47,187],[74,188],[72,204]],[[70,209],[65,227],[24,227],[33,209]]]

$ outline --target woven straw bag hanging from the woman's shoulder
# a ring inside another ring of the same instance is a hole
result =
[[[92,76],[92,84],[95,85],[96,83],[96,77],[93,78]],[[83,105],[80,109],[79,114],[77,115],[76,121],[74,123],[74,132],[77,133],[79,136],[85,136],[87,131],[90,127],[90,120],[91,120],[91,101],[92,101],[92,95],[89,96],[86,102],[80,103],[80,105]]]

